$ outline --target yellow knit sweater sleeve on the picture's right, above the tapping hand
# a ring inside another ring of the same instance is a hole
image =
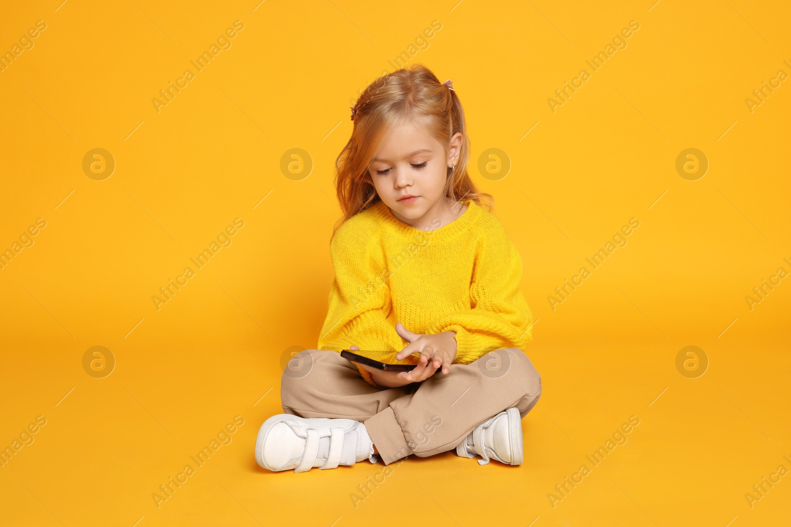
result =
[[[520,254],[499,221],[482,234],[470,284],[471,309],[442,314],[429,331],[456,332],[454,363],[471,363],[500,348],[524,351],[532,341],[532,313],[519,289]]]

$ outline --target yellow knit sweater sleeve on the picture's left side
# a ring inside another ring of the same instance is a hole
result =
[[[384,280],[386,265],[384,254],[376,248],[377,239],[354,220],[347,220],[335,232],[330,243],[335,280],[317,345],[335,352],[356,345],[363,351],[387,352],[381,355],[383,362],[399,362],[395,354],[404,344],[395,325],[388,321],[392,302]],[[355,366],[365,382],[381,388],[369,371]]]

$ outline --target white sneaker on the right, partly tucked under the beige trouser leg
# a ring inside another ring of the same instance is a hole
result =
[[[521,465],[524,458],[522,419],[519,408],[508,408],[473,428],[470,435],[456,446],[461,457],[483,457],[479,465],[489,463],[490,457],[507,465]]]

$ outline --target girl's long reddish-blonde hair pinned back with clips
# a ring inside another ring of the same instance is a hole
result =
[[[351,137],[335,160],[335,191],[343,216],[335,224],[333,235],[350,217],[381,201],[368,167],[384,135],[397,122],[424,120],[445,152],[453,134],[461,132],[459,160],[455,169],[448,167],[445,196],[453,201],[471,199],[488,210],[494,209],[494,198],[479,192],[467,173],[470,140],[461,101],[426,66],[414,64],[373,81],[358,98],[352,119]]]

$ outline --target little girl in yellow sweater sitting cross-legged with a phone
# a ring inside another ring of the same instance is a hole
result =
[[[369,85],[351,119],[327,318],[284,371],[286,413],[261,426],[255,460],[305,472],[456,449],[520,465],[521,419],[541,395],[524,354],[532,315],[520,255],[467,174],[459,97],[414,65]],[[344,349],[418,365],[381,371]]]

